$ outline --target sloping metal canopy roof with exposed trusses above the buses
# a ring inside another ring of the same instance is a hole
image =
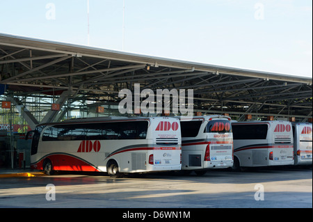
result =
[[[14,95],[72,90],[118,102],[123,88],[193,88],[203,113],[312,117],[312,78],[178,61],[0,33],[0,84]]]

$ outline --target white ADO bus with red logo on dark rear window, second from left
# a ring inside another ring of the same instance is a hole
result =
[[[182,170],[203,175],[210,168],[229,168],[233,164],[231,118],[195,116],[179,118],[182,128]]]

